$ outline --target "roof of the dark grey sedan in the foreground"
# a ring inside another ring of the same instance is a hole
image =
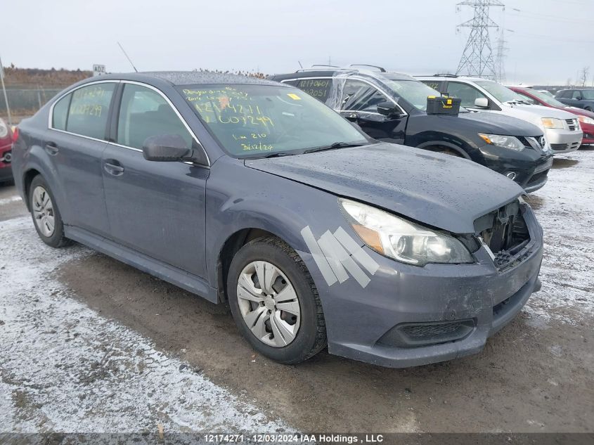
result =
[[[258,77],[248,77],[235,75],[229,72],[212,71],[148,71],[148,72],[123,72],[90,77],[86,82],[96,82],[97,80],[135,80],[138,82],[147,82],[150,80],[164,80],[174,86],[180,85],[200,85],[200,84],[254,84],[254,85],[275,85],[268,79]]]

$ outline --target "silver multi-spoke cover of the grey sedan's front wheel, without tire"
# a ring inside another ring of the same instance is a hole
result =
[[[261,342],[284,347],[295,340],[301,322],[299,297],[277,266],[247,264],[239,275],[237,299],[243,321]]]

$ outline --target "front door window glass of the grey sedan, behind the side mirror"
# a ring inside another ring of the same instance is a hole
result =
[[[173,108],[156,91],[135,84],[126,84],[122,94],[117,125],[117,143],[142,149],[150,136],[178,134],[188,147],[192,136]]]

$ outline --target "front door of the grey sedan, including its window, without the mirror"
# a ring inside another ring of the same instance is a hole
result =
[[[138,252],[205,277],[207,166],[145,160],[146,138],[195,136],[172,103],[152,86],[122,82],[115,143],[103,152],[103,183],[110,236]]]

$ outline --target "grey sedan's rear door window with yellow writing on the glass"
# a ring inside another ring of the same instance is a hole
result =
[[[66,130],[91,138],[104,139],[115,86],[116,84],[112,82],[93,84],[73,91]]]

